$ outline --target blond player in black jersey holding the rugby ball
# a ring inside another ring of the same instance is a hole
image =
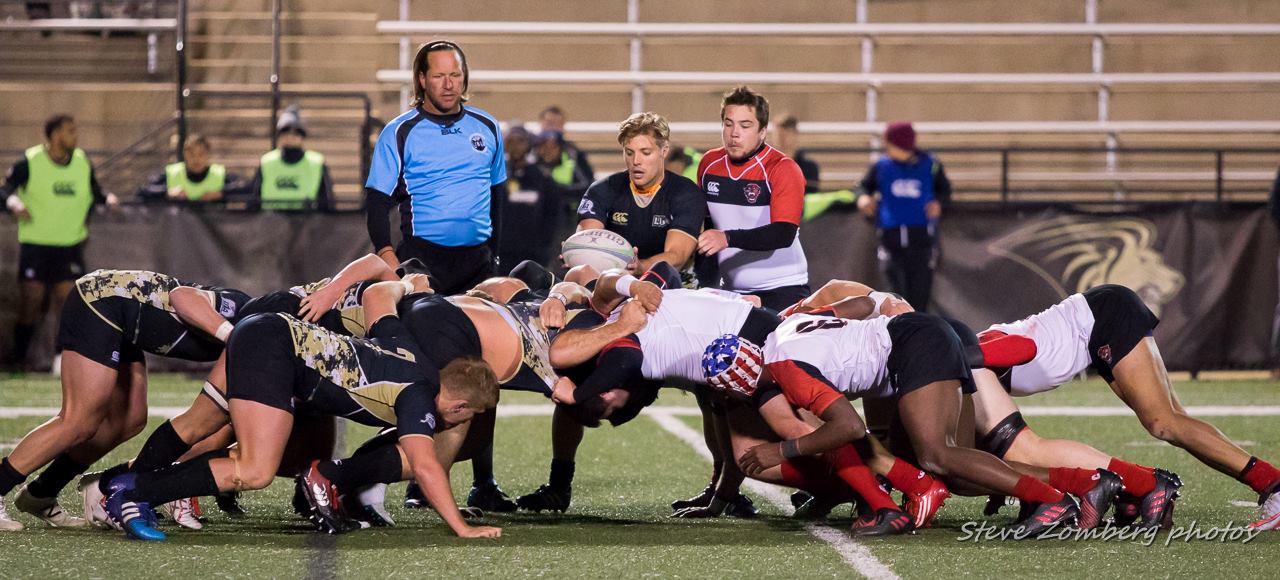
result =
[[[666,170],[671,129],[654,113],[618,127],[627,169],[591,184],[577,207],[577,229],[608,229],[635,247],[634,271],[664,261],[684,268],[698,247],[707,201],[694,182]]]

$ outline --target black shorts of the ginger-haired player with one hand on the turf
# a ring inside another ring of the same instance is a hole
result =
[[[228,401],[242,398],[293,412],[293,393],[303,370],[310,369],[293,351],[289,323],[275,314],[241,320],[227,338]]]

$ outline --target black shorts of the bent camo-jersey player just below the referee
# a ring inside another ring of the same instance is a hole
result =
[[[467,314],[440,294],[424,294],[401,302],[401,320],[413,342],[436,369],[463,357],[481,357],[480,333]]]

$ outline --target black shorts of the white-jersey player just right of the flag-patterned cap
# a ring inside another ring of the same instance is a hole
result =
[[[888,378],[896,396],[940,380],[959,380],[964,393],[977,391],[960,337],[946,320],[923,312],[900,314],[888,323]]]

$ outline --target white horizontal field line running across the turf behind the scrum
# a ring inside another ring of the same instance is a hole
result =
[[[172,417],[187,407],[151,407],[152,416]],[[550,403],[535,405],[498,405],[499,417],[530,417],[547,416],[554,408]],[[1133,411],[1124,406],[1107,407],[1075,407],[1075,406],[1028,406],[1021,407],[1024,416],[1059,416],[1059,417],[1128,417]],[[646,412],[659,412],[664,415],[698,415],[698,407],[657,406],[649,407]],[[1187,412],[1198,417],[1271,417],[1280,416],[1280,405],[1204,405],[1187,407]],[[0,407],[0,419],[14,417],[50,417],[58,415],[58,407]]]

